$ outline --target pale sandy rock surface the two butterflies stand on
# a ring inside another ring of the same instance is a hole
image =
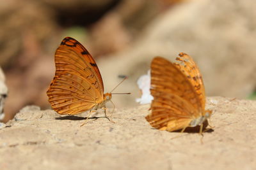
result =
[[[255,169],[256,101],[207,101],[214,130],[203,143],[195,133],[150,127],[149,105],[116,110],[115,124],[91,118],[83,127],[84,115],[28,106],[0,129],[0,169]]]

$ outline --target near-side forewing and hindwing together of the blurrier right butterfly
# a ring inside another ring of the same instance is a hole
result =
[[[146,119],[157,129],[182,129],[202,114],[202,104],[186,74],[162,57],[152,60],[150,92],[154,100]]]

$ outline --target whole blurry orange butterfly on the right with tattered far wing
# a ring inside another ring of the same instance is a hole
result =
[[[151,89],[154,97],[152,113],[146,120],[156,129],[184,132],[187,127],[200,125],[211,117],[205,110],[205,89],[202,76],[194,60],[179,53],[178,63],[156,57],[151,63]]]

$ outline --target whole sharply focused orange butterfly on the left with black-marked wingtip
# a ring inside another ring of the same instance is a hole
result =
[[[53,110],[75,115],[105,108],[111,100],[111,92],[104,94],[99,68],[81,43],[64,38],[56,50],[55,64],[55,76],[47,91]]]

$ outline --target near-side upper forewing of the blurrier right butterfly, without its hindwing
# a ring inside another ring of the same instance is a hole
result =
[[[156,92],[166,92],[176,95],[190,103],[195,110],[200,110],[199,98],[188,78],[172,62],[156,57],[151,64],[152,96]]]

